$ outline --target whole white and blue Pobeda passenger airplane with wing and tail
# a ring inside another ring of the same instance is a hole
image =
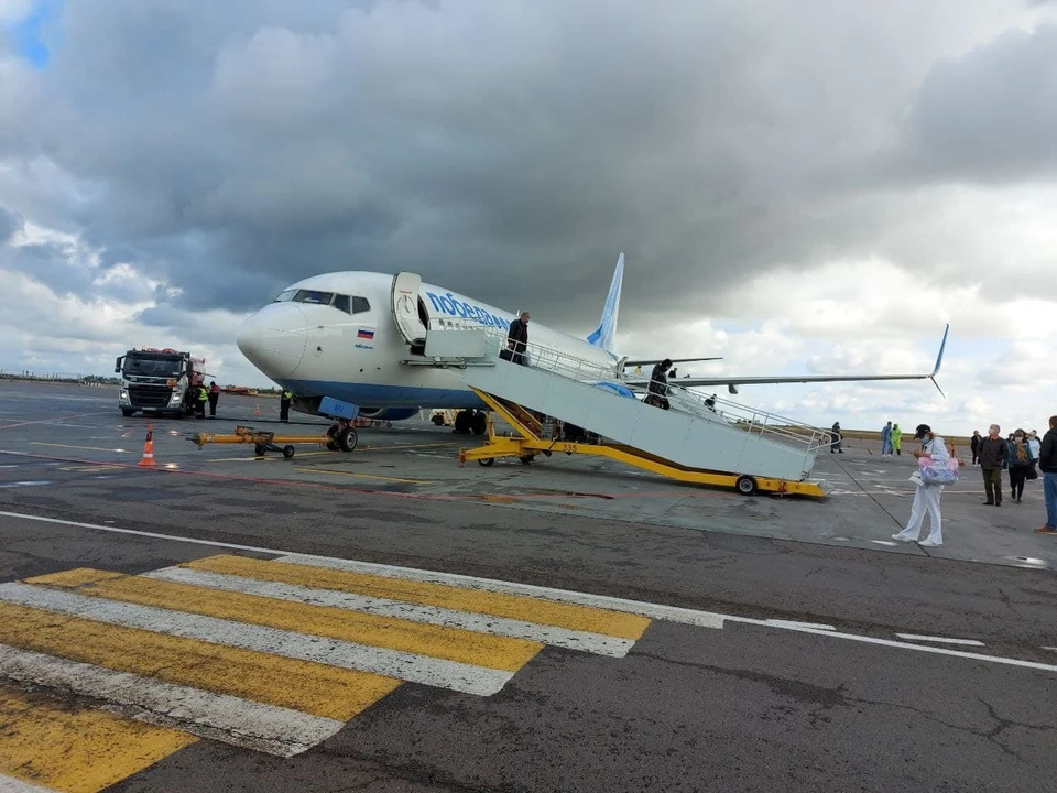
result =
[[[661,359],[631,361],[614,349],[623,272],[621,253],[598,328],[587,338],[530,321],[530,345],[609,369],[625,385],[646,384],[647,380],[629,380],[625,367]],[[457,431],[483,434],[484,403],[462,383],[458,368],[428,366],[426,333],[480,325],[505,333],[517,315],[424,283],[415,273],[333,272],[287,286],[242,323],[236,344],[253,366],[296,394],[294,410],[318,413],[324,397],[358,405],[361,417],[386,421],[410,419],[424,408],[455,409]],[[872,380],[931,380],[938,389],[936,374],[949,329],[948,325],[936,366],[927,374],[726,374],[680,378],[675,383],[726,385],[731,393],[738,393],[739,385]]]

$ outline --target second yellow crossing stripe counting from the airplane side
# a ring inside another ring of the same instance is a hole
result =
[[[92,580],[92,574],[98,574],[98,579]],[[115,577],[115,574],[103,571],[74,569],[29,578],[26,583],[66,587],[76,589],[80,595],[327,637],[504,672],[516,672],[543,649],[543,644],[524,639],[154,578]]]

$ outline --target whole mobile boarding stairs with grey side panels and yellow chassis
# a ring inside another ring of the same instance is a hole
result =
[[[530,345],[531,366],[520,366],[500,358],[503,346],[504,337],[482,328],[431,332],[427,337],[427,356],[442,349],[446,354],[435,354],[435,365],[462,368],[462,381],[516,432],[497,435],[490,420],[487,443],[461,452],[460,461],[488,466],[500,457],[517,457],[528,463],[540,454],[563,452],[608,457],[679,481],[733,487],[745,495],[759,490],[820,498],[832,489],[808,478],[819,448],[829,444],[824,430],[726,400],[706,400],[676,382],[669,383],[666,394],[669,410],[662,410],[620,382],[615,365],[606,369]],[[558,427],[541,421],[541,414],[603,442],[563,441]]]

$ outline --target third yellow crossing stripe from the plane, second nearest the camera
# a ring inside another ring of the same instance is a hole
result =
[[[0,602],[0,642],[347,721],[400,681]]]

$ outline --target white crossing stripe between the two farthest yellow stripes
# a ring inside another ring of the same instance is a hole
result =
[[[189,569],[186,567],[166,567],[152,573],[145,573],[143,577],[157,580],[179,582],[210,589],[261,595],[280,600],[290,600],[292,602],[316,604],[385,617],[402,617],[416,622],[464,628],[466,630],[492,636],[527,639],[552,647],[580,650],[582,652],[611,655],[613,658],[626,655],[628,651],[634,644],[634,642],[629,639],[618,639],[602,633],[567,630],[503,617],[479,616],[435,606],[419,606],[389,598],[351,595],[334,589],[320,589],[318,587],[307,587],[295,584],[275,584],[258,578],[207,573],[205,571]]]

